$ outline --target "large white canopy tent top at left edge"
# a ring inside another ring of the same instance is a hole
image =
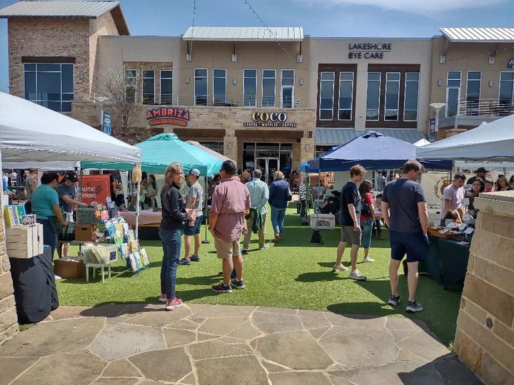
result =
[[[0,150],[4,163],[141,160],[141,150],[132,145],[79,120],[1,92]]]

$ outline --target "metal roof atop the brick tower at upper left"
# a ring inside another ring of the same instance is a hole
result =
[[[97,18],[118,1],[19,1],[0,9],[0,17],[84,17]]]

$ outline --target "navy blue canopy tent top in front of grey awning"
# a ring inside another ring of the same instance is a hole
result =
[[[144,156],[144,155],[143,155]],[[348,171],[357,163],[367,169],[402,168],[409,159],[416,158],[416,146],[391,136],[367,131],[328,154],[308,161],[307,171]],[[425,168],[451,170],[451,160],[420,159]]]

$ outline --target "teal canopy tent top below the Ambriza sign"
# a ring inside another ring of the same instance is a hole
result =
[[[184,173],[198,168],[202,176],[217,173],[223,160],[197,146],[178,139],[174,133],[155,135],[135,145],[141,149],[141,170],[146,173],[163,174],[170,163],[178,162]],[[127,162],[81,162],[82,168],[106,170],[132,170],[133,163]]]

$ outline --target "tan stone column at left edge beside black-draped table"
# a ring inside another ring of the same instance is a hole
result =
[[[0,342],[19,332],[11,265],[6,253],[3,215],[4,213],[0,210]]]

